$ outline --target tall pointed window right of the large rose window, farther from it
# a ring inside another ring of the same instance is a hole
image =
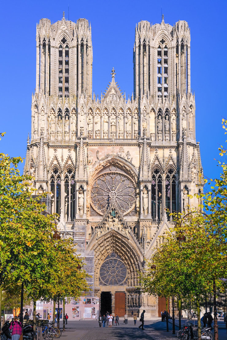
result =
[[[177,211],[176,184],[177,177],[175,171],[170,168],[165,176],[165,207],[168,217],[170,213]]]

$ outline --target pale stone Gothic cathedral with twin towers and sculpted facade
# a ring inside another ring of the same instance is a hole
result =
[[[136,24],[131,97],[113,65],[106,90],[93,94],[92,62],[88,20],[39,21],[24,173],[85,257],[101,311],[158,316],[162,299],[141,291],[139,273],[174,225],[171,213],[197,207],[190,197],[204,185],[190,28],[164,17]]]

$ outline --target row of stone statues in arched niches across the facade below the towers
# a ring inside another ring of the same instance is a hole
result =
[[[69,123],[71,118],[71,124],[69,129]],[[193,109],[189,109],[189,134],[193,137]],[[144,108],[141,113],[141,123],[143,135],[147,136],[149,131],[151,140],[155,140],[155,111],[152,109],[150,112],[150,118],[148,121],[147,109]],[[56,124],[56,129],[55,129]],[[55,133],[58,140],[69,140],[69,130],[71,131],[71,138],[75,138],[78,134],[84,136],[85,133],[85,112],[83,107],[80,109],[80,113],[77,118],[76,109],[72,109],[71,117],[67,113],[62,118],[62,112],[58,113],[57,122],[55,122],[55,112],[53,109],[49,115],[49,135],[50,139],[55,139]],[[149,125],[149,126],[148,126]],[[171,126],[171,136],[170,136]],[[148,129],[149,127],[149,129]],[[64,129],[63,129],[64,128]],[[182,129],[187,130],[187,110],[182,108]],[[34,135],[38,132],[38,111],[34,109],[33,120]],[[40,110],[40,130],[45,130],[45,109]],[[164,134],[164,135],[163,135]],[[92,110],[88,110],[87,113],[87,135],[89,138],[137,138],[139,135],[139,111],[135,109],[132,115],[131,111],[127,111],[124,116],[123,110],[119,111],[118,117],[116,116],[115,109],[112,109],[111,114],[107,110],[104,110],[103,115],[100,111],[97,111],[93,116]],[[157,114],[157,139],[158,140],[176,140],[176,110],[173,109],[171,115],[169,112],[165,112],[164,116],[162,111]]]

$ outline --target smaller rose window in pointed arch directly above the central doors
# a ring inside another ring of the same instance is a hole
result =
[[[118,286],[127,284],[127,269],[114,252],[104,260],[99,271],[99,285]]]

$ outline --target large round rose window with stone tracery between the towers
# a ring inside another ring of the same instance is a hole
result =
[[[121,173],[113,172],[99,176],[91,190],[93,207],[101,214],[112,201],[123,214],[135,204],[135,187],[131,179]]]

